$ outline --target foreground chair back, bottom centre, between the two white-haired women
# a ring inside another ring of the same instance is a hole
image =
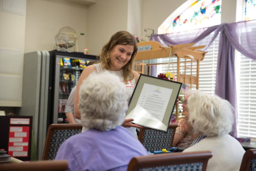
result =
[[[127,171],[205,171],[211,151],[133,157]]]

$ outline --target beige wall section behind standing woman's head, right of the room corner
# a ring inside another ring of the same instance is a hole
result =
[[[127,30],[127,6],[127,0],[97,0],[88,7],[85,36],[89,54],[99,54],[114,33]]]

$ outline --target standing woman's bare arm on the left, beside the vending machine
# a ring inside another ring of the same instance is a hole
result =
[[[74,115],[77,119],[81,118],[81,113],[80,113],[80,110],[78,107],[80,85],[94,71],[96,71],[96,67],[94,65],[90,65],[83,70],[82,74],[80,75],[80,77],[78,79],[78,82],[76,85],[76,95],[75,95],[75,99],[74,99]]]

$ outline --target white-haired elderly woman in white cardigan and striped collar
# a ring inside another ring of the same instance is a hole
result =
[[[210,150],[209,171],[239,170],[245,150],[229,135],[234,111],[231,104],[200,91],[190,91],[188,96],[185,120],[194,141],[184,152]]]

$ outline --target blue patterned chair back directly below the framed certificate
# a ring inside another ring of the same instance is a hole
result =
[[[170,124],[167,132],[161,132],[155,129],[141,128],[139,132],[139,141],[147,151],[158,151],[170,149],[173,144],[173,137],[177,124]]]

